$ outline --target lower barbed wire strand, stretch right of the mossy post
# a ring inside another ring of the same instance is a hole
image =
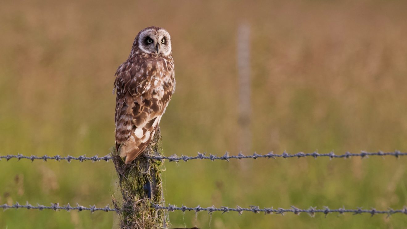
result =
[[[365,210],[362,209],[360,207],[358,207],[357,209],[345,209],[345,207],[343,208],[339,208],[339,209],[329,209],[328,207],[324,207],[324,209],[317,209],[316,207],[310,207],[309,209],[299,209],[297,207],[291,206],[290,209],[284,209],[284,208],[276,208],[274,209],[273,207],[271,208],[259,208],[258,206],[249,206],[249,208],[243,208],[243,207],[239,207],[236,206],[236,208],[231,208],[231,207],[201,207],[201,206],[197,206],[197,207],[185,207],[184,205],[182,205],[182,207],[177,207],[175,205],[171,205],[168,204],[168,207],[165,206],[161,206],[161,205],[155,205],[153,204],[153,207],[155,207],[156,209],[166,209],[170,212],[174,212],[175,210],[180,210],[182,212],[185,211],[194,211],[194,212],[201,212],[201,211],[206,211],[208,212],[208,214],[211,214],[212,212],[238,212],[239,216],[241,214],[243,214],[243,212],[253,212],[253,213],[260,213],[260,212],[264,212],[265,214],[282,214],[284,215],[284,213],[286,212],[292,212],[296,215],[299,215],[301,212],[305,212],[307,214],[309,214],[310,216],[314,216],[315,213],[323,213],[326,215],[328,215],[329,213],[339,213],[339,214],[344,214],[344,213],[353,213],[353,215],[357,215],[357,214],[370,214],[371,216],[374,216],[376,214],[387,214],[387,216],[390,216],[392,214],[396,214],[396,213],[403,213],[403,214],[407,214],[407,207],[404,207],[403,209],[391,209],[389,208],[387,211],[379,211],[376,210],[375,208],[371,208],[370,210]]]

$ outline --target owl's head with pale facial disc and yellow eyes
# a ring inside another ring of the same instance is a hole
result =
[[[138,33],[136,40],[142,52],[163,56],[171,54],[171,37],[164,28],[155,26],[145,28]]]

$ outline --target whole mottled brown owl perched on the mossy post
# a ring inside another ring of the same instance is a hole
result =
[[[175,91],[169,33],[155,26],[140,31],[115,76],[116,153],[120,148],[129,164],[151,142]]]

